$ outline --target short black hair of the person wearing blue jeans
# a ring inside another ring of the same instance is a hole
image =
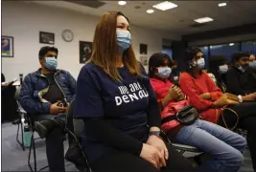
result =
[[[169,65],[171,63],[171,58],[168,54],[161,54],[161,53],[157,53],[157,54],[152,54],[149,60],[149,76],[150,77],[154,77],[154,70],[157,67],[163,66],[165,65],[165,60],[168,60]]]

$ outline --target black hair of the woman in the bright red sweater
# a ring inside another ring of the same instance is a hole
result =
[[[185,72],[189,73],[193,77],[196,77],[196,74],[194,72],[194,68],[192,67],[192,59],[198,53],[202,53],[202,51],[198,47],[189,47],[184,51],[184,54],[183,54],[183,60],[184,60],[183,69],[185,70]]]

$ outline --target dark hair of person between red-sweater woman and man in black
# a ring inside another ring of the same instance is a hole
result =
[[[227,63],[228,60],[226,56],[223,54],[214,54],[211,55],[209,58],[209,70],[208,73],[212,73],[215,75],[217,80],[217,85],[221,88],[221,84],[224,82],[222,75],[220,74],[219,67],[225,63]]]

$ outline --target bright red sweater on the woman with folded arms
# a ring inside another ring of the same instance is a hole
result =
[[[217,123],[221,109],[213,109],[211,106],[215,100],[221,97],[222,92],[211,77],[202,73],[201,75],[197,75],[197,78],[194,78],[188,73],[182,73],[179,76],[179,85],[182,92],[189,97],[191,105],[200,113],[200,117],[207,121]],[[203,93],[210,93],[212,98],[210,100],[200,98],[199,96]]]

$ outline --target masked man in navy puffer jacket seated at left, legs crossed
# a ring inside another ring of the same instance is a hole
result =
[[[42,47],[39,51],[41,68],[26,75],[19,101],[28,115],[33,116],[38,128],[51,128],[46,138],[46,155],[50,171],[65,171],[64,133],[55,127],[57,118],[65,120],[68,104],[75,98],[76,80],[67,71],[58,70],[58,49]],[[61,102],[61,103],[59,103]],[[42,138],[42,134],[37,131]]]

